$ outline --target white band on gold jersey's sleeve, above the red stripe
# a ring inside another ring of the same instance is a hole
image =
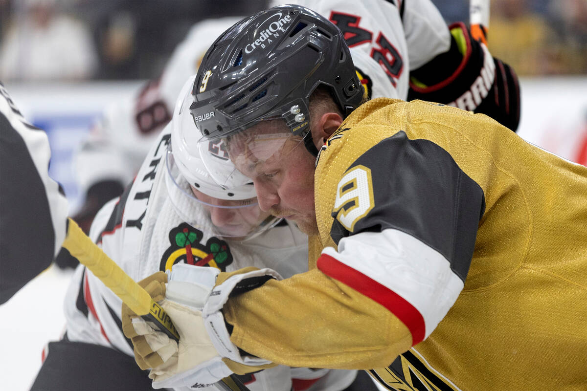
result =
[[[326,247],[322,256],[330,256],[351,268],[355,276],[350,279],[349,286],[359,292],[372,289],[353,282],[357,281],[359,274],[386,288],[379,290],[376,297],[371,297],[373,300],[384,302],[389,295],[397,295],[406,301],[423,318],[425,331],[422,339],[431,334],[463,290],[463,281],[442,254],[397,229],[345,237],[340,240],[338,250]],[[322,271],[329,276],[332,273]],[[399,302],[398,299],[396,302]],[[407,304],[402,304],[400,308],[405,310]],[[389,309],[401,319],[396,314],[396,308]],[[410,331],[411,328],[419,328],[417,324],[406,326]],[[414,343],[419,342],[416,336],[413,335],[413,338]]]

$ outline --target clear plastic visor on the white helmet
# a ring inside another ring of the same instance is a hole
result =
[[[185,222],[219,237],[250,239],[275,226],[279,218],[262,212],[257,198],[225,200],[207,195],[181,175],[168,147],[166,186],[173,207]]]

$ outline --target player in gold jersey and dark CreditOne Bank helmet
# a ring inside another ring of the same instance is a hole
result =
[[[363,103],[343,36],[274,11],[208,50],[183,140],[204,160],[225,142],[261,209],[312,235],[308,272],[225,301],[230,341],[390,390],[587,389],[587,168],[483,114]],[[278,25],[252,66],[242,42]]]

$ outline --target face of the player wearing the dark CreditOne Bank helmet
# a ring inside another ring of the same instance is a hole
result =
[[[261,130],[245,142],[231,142],[229,148],[237,169],[252,179],[261,210],[293,220],[306,234],[318,233],[314,157],[299,138]]]

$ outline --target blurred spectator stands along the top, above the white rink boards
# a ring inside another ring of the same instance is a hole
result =
[[[468,1],[433,0],[448,23]],[[0,0],[0,78],[151,79],[190,27],[262,0]],[[519,76],[587,73],[587,1],[492,0],[491,53]],[[59,56],[68,53],[67,56]]]

